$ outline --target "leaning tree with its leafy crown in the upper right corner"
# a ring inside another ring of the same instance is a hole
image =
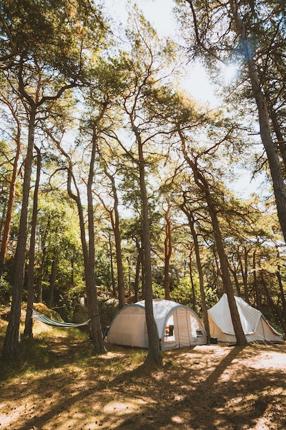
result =
[[[271,79],[268,80],[265,75],[270,71],[265,64],[268,58],[273,57],[273,52],[279,52],[281,49],[281,39],[285,43],[285,29],[282,25],[285,19],[285,8],[281,7],[279,0],[274,2],[257,0],[248,4],[235,0],[229,0],[226,3],[180,0],[178,4],[182,5],[184,2],[187,2],[191,8],[195,32],[193,46],[189,46],[190,52],[195,56],[206,58],[206,63],[212,69],[217,67],[217,62],[224,65],[230,63],[234,52],[238,54],[237,57],[243,58],[242,67],[246,68],[246,78],[257,105],[259,133],[267,154],[278,218],[286,240],[286,190],[283,168],[270,127],[270,112],[273,112],[275,103],[272,100],[269,105],[265,96],[265,93],[270,95],[271,82]],[[184,14],[184,17],[186,16],[187,14]],[[268,22],[271,25],[265,24]],[[257,38],[260,44],[259,46],[256,43],[258,47],[256,52],[254,38]],[[261,60],[263,70],[259,73]],[[282,69],[280,67],[279,70]],[[273,114],[272,117],[274,118]],[[277,130],[276,125],[274,122],[274,129]],[[278,137],[281,139],[281,134],[278,134]],[[278,142],[283,146],[283,140]]]

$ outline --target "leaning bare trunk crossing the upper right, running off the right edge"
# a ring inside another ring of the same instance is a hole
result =
[[[245,59],[248,65],[248,73],[250,76],[250,82],[252,86],[253,95],[257,103],[259,113],[259,126],[261,141],[267,154],[267,159],[270,167],[270,173],[272,177],[272,184],[274,190],[274,196],[276,201],[278,219],[283,232],[284,240],[286,242],[286,189],[284,184],[284,177],[281,168],[281,161],[278,156],[276,145],[272,141],[270,132],[270,117],[267,107],[265,95],[261,88],[261,82],[259,82],[259,76],[257,74],[257,65],[254,63],[252,47],[248,40],[246,26],[243,25],[241,16],[238,12],[237,1],[229,1],[231,11],[233,13],[234,23],[237,29],[237,33],[241,37],[245,51]]]

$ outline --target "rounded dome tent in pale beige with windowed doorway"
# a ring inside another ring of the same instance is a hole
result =
[[[206,344],[202,321],[188,306],[154,299],[153,310],[162,350]],[[148,348],[144,300],[119,310],[110,324],[107,341]]]

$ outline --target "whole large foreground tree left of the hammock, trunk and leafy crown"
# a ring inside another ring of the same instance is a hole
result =
[[[21,99],[28,127],[13,297],[2,353],[5,361],[16,358],[19,345],[35,129],[40,121],[40,113],[45,117],[45,113],[51,111],[53,103],[64,91],[79,84],[84,76],[86,48],[95,41],[101,41],[105,32],[101,21],[97,19],[92,23],[95,14],[88,1],[79,0],[71,5],[62,0],[60,5],[62,7],[59,7],[58,1],[45,5],[33,0],[3,2],[0,32],[5,38],[7,28],[4,23],[8,23],[18,55],[15,60],[14,57],[9,58],[8,63],[1,67],[1,73],[10,84],[11,91]],[[95,27],[99,30],[96,37],[93,32]],[[37,34],[37,37],[33,34]]]

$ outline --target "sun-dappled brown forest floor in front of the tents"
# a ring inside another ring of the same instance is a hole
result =
[[[1,363],[0,430],[286,429],[285,343],[162,352],[162,367],[146,355],[106,344],[97,357],[86,333],[35,322]]]

